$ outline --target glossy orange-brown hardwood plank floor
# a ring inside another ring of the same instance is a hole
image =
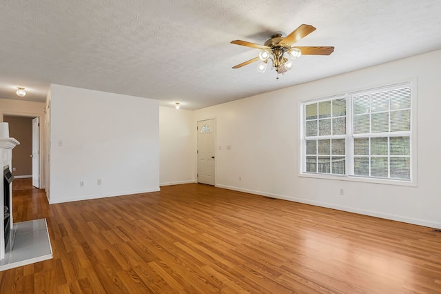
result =
[[[431,228],[203,184],[14,191],[15,222],[43,217],[54,258],[0,272],[0,293],[441,293]]]

